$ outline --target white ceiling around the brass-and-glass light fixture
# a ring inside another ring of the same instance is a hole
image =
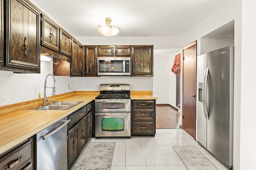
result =
[[[118,37],[182,36],[227,0],[31,0],[74,37],[103,36],[97,28],[120,28]]]

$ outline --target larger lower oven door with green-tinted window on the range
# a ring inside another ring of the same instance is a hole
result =
[[[131,113],[95,113],[95,137],[130,137]]]

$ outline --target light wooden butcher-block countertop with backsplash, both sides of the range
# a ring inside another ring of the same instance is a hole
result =
[[[93,101],[99,91],[69,92],[49,99],[55,101],[84,101],[65,111],[24,111],[42,105],[42,98],[0,107],[0,154],[32,137],[46,127]],[[132,100],[156,100],[152,91],[131,91]]]

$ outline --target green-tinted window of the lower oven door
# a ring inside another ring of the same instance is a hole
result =
[[[103,118],[102,131],[123,131],[124,119],[123,118]]]

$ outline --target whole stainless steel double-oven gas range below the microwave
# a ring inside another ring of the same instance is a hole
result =
[[[130,136],[130,84],[101,84],[95,98],[95,137]]]

